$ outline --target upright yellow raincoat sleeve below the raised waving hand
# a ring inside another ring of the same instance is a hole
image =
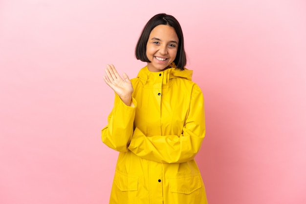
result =
[[[128,151],[133,134],[136,101],[132,98],[132,105],[127,106],[115,94],[114,107],[108,117],[108,125],[102,129],[102,141],[110,148],[119,151]]]

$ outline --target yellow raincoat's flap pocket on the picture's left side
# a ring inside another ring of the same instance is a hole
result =
[[[116,171],[114,182],[121,191],[138,190],[138,177]]]

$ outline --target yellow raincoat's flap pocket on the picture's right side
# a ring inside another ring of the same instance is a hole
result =
[[[169,179],[170,191],[173,193],[191,194],[202,187],[199,175],[186,175]]]

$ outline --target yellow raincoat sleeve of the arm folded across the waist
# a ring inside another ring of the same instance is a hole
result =
[[[204,99],[200,88],[193,88],[187,119],[179,135],[147,137],[137,127],[129,149],[137,156],[159,163],[193,160],[205,136]]]

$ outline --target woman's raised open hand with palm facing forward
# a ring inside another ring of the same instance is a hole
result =
[[[103,76],[104,81],[114,90],[126,105],[131,105],[133,86],[128,75],[123,73],[123,78],[121,78],[114,65],[108,64],[106,66],[107,68],[105,69],[105,73],[107,77]]]

